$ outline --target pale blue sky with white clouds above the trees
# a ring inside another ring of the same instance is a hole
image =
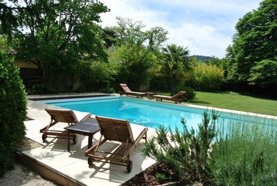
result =
[[[110,12],[100,14],[102,28],[116,26],[116,17],[142,22],[148,30],[168,31],[166,44],[188,47],[190,56],[224,58],[235,24],[262,0],[101,0]]]

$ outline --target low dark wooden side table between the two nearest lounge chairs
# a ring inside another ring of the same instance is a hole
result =
[[[93,135],[100,131],[96,119],[92,117],[84,119],[77,124],[66,126],[64,129],[67,130],[67,151],[70,151],[70,133],[89,136],[89,142],[87,146],[87,149],[89,149],[92,146]]]

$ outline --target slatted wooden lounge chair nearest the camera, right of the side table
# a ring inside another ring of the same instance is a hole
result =
[[[88,149],[85,153],[88,156],[88,163],[91,165],[94,160],[109,162],[127,167],[132,171],[130,153],[134,150],[141,139],[147,142],[148,128],[129,124],[128,120],[114,119],[96,116],[100,127],[100,140],[97,144]],[[107,141],[111,142],[107,142]]]

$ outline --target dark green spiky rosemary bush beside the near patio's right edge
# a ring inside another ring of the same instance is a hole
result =
[[[211,120],[208,112],[205,111],[198,131],[193,128],[188,130],[184,119],[181,120],[184,129],[180,131],[175,128],[175,133],[171,128],[159,126],[156,130],[157,135],[145,144],[142,153],[154,158],[160,164],[165,164],[173,171],[172,176],[183,184],[211,185],[211,169],[208,167],[208,161],[211,142],[215,137],[217,117],[217,114],[213,112]]]

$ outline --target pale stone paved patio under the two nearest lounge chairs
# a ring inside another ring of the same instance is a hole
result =
[[[43,146],[24,151],[22,154],[30,158],[30,160],[35,160],[36,164],[39,164],[40,167],[51,169],[52,173],[49,173],[49,171],[40,171],[42,174],[46,174],[43,175],[46,178],[59,179],[59,176],[47,175],[55,173],[60,174],[63,177],[62,179],[69,180],[69,182],[65,181],[66,185],[120,185],[154,164],[154,160],[151,158],[143,158],[141,155],[140,149],[143,147],[143,140],[132,153],[131,160],[133,161],[133,168],[131,173],[127,172],[126,167],[116,164],[93,162],[89,166],[87,157],[84,156],[84,152],[87,150],[87,136],[78,135],[77,144],[73,144],[71,140],[70,152],[67,151],[66,139],[47,138],[46,142],[42,142],[42,133],[39,133],[39,129],[46,126],[50,121],[50,116],[45,111],[45,108],[57,107],[28,100],[28,117],[35,120],[24,121],[26,137],[35,142],[39,142]],[[59,124],[55,125],[55,128],[61,129],[65,126]],[[154,133],[154,129],[149,128],[148,137],[154,135]],[[100,133],[96,133],[93,136],[93,144],[97,142],[99,137]],[[28,160],[28,163],[30,160]],[[59,180],[55,181],[59,183]]]

